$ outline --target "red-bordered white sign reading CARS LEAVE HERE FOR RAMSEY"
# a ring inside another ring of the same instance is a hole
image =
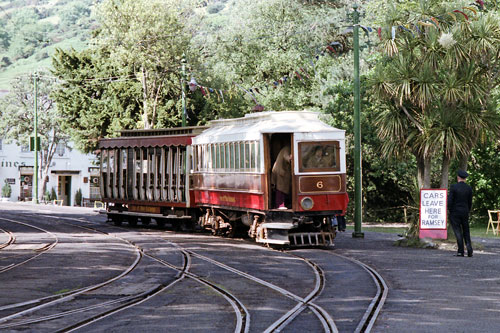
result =
[[[420,238],[446,239],[447,190],[420,190]]]

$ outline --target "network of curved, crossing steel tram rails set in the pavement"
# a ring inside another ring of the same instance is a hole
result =
[[[321,268],[320,265],[318,265],[314,260],[308,259],[304,256],[299,256],[297,254],[294,254],[293,252],[286,251],[287,255],[305,262],[311,269],[314,275],[314,285],[311,289],[311,291],[306,295],[306,296],[298,296],[295,293],[291,292],[290,290],[287,290],[286,288],[282,288],[272,282],[266,281],[264,279],[260,279],[259,277],[253,275],[253,274],[248,274],[246,272],[243,272],[241,270],[238,270],[234,267],[231,267],[230,265],[225,264],[224,262],[221,262],[219,260],[215,260],[212,258],[209,258],[208,256],[205,256],[203,254],[198,253],[197,251],[189,250],[184,248],[183,246],[172,242],[171,240],[167,238],[163,238],[163,241],[168,242],[169,246],[175,248],[179,253],[182,255],[182,265],[178,266],[176,264],[172,264],[169,262],[168,258],[167,260],[163,258],[161,255],[153,254],[150,251],[145,250],[140,244],[135,243],[133,240],[121,238],[117,235],[113,235],[112,232],[108,233],[106,231],[100,230],[100,226],[102,224],[94,224],[92,222],[89,222],[85,219],[77,219],[77,218],[70,218],[70,217],[60,217],[60,216],[50,216],[50,215],[45,215],[46,217],[49,218],[54,218],[58,219],[60,223],[64,224],[70,224],[73,227],[78,227],[78,228],[83,228],[88,231],[92,232],[97,232],[101,233],[103,235],[107,235],[110,237],[115,237],[118,239],[121,239],[124,242],[127,242],[129,245],[134,246],[136,249],[137,255],[139,255],[141,258],[146,257],[149,258],[150,260],[155,261],[159,265],[162,265],[169,270],[174,270],[177,272],[176,278],[171,281],[171,283],[168,284],[163,284],[163,285],[158,285],[155,288],[152,288],[150,290],[147,290],[146,292],[137,294],[137,295],[130,295],[127,297],[121,297],[118,299],[114,300],[109,300],[105,302],[101,302],[99,304],[93,304],[93,305],[88,305],[85,307],[77,307],[77,308],[71,308],[67,309],[65,311],[56,311],[54,313],[51,313],[50,315],[44,315],[44,316],[39,316],[38,318],[27,318],[23,319],[23,316],[27,315],[32,315],[34,312],[41,310],[41,309],[47,309],[52,307],[53,305],[56,304],[63,304],[63,303],[71,303],[70,301],[78,298],[79,295],[84,295],[85,293],[88,293],[90,291],[89,288],[81,288],[79,290],[75,290],[74,292],[71,293],[66,293],[64,295],[60,296],[54,296],[54,297],[47,297],[44,299],[38,299],[38,300],[32,300],[30,302],[23,302],[19,304],[13,304],[10,305],[10,308],[15,308],[15,307],[26,307],[30,306],[29,309],[19,311],[16,314],[14,314],[14,317],[4,317],[0,318],[0,329],[6,329],[6,328],[15,328],[15,327],[26,327],[29,325],[33,325],[36,323],[41,323],[41,322],[47,322],[59,318],[71,318],[71,316],[75,316],[77,314],[87,314],[85,315],[84,319],[78,319],[75,320],[75,322],[67,325],[60,326],[62,328],[59,329],[59,332],[72,332],[76,331],[78,329],[87,327],[89,325],[97,323],[99,320],[102,320],[104,318],[108,318],[112,315],[115,315],[121,311],[124,311],[126,309],[133,308],[134,306],[137,306],[139,304],[142,304],[143,302],[146,302],[147,300],[150,300],[152,297],[155,297],[159,295],[162,292],[165,292],[166,290],[172,288],[174,285],[178,284],[184,279],[190,279],[193,281],[196,281],[198,284],[203,285],[214,292],[216,292],[220,297],[222,297],[225,302],[233,309],[234,312],[234,318],[235,318],[235,326],[234,326],[234,332],[250,332],[252,330],[252,325],[251,325],[251,311],[247,309],[245,306],[244,299],[239,299],[234,295],[233,291],[229,291],[230,288],[225,287],[224,283],[221,285],[221,281],[211,281],[208,276],[201,276],[199,273],[195,274],[192,271],[190,271],[191,268],[191,262],[195,258],[197,260],[201,260],[203,262],[206,262],[208,264],[217,266],[221,268],[222,270],[228,271],[231,274],[237,275],[241,278],[247,279],[249,281],[252,281],[253,283],[257,283],[260,285],[262,288],[267,288],[270,289],[274,292],[277,292],[279,295],[282,297],[285,297],[287,299],[291,299],[293,302],[296,303],[295,306],[292,306],[291,308],[286,311],[283,315],[281,315],[279,318],[275,319],[272,323],[269,323],[267,325],[267,328],[265,332],[280,332],[286,329],[289,329],[292,323],[294,323],[297,320],[303,319],[301,316],[301,313],[304,312],[304,310],[308,309],[308,313],[312,313],[316,320],[319,322],[319,325],[322,327],[322,330],[324,332],[338,332],[339,330],[337,329],[337,326],[335,324],[334,318],[332,318],[331,314],[329,313],[328,310],[324,308],[324,306],[320,306],[316,303],[317,300],[321,299],[322,292],[325,288],[326,285],[326,278],[325,278],[325,273],[323,272],[323,269]],[[69,221],[69,222],[62,222],[62,221]],[[76,225],[72,222],[78,222],[78,223],[85,223],[85,226],[82,225]],[[113,229],[116,229],[116,227],[111,227]],[[126,229],[130,231],[130,229]],[[142,232],[141,235],[155,235],[158,236],[160,233],[158,231],[152,232],[152,233],[144,233]],[[326,252],[326,251],[325,251]],[[332,253],[331,251],[327,252],[328,255],[335,255],[339,258],[342,258],[343,260],[349,260],[350,262],[360,266],[365,270],[368,274],[370,274],[372,280],[376,284],[377,292],[376,296],[373,298],[373,300],[370,302],[370,305],[366,312],[363,315],[362,320],[358,323],[356,327],[355,332],[370,332],[371,329],[373,328],[373,325],[376,321],[376,318],[378,314],[380,313],[383,304],[385,302],[385,299],[387,297],[387,285],[383,281],[382,277],[374,271],[372,268],[369,266],[355,260],[352,258],[344,257],[335,253]],[[204,274],[203,274],[204,275]],[[112,282],[109,282],[112,283]],[[96,285],[97,286],[97,285]],[[99,287],[97,287],[99,288]],[[95,289],[94,289],[95,290]],[[33,306],[34,305],[34,306]],[[7,307],[0,307],[0,311],[2,309],[6,309]],[[15,319],[15,320],[14,320]],[[75,317],[76,319],[76,317]],[[257,318],[258,320],[258,318]],[[71,319],[66,320],[66,323],[71,322]],[[255,328],[254,328],[255,330]],[[261,330],[259,330],[261,331]]]

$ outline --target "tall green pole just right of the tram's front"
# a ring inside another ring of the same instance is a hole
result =
[[[363,238],[362,220],[362,181],[361,181],[361,94],[359,83],[359,12],[358,5],[354,9],[354,232],[352,237]]]

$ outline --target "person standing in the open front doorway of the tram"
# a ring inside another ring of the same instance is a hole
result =
[[[290,146],[281,148],[272,169],[271,185],[275,190],[275,207],[286,209],[292,190],[292,153]]]

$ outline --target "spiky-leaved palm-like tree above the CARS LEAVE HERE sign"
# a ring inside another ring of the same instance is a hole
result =
[[[461,159],[465,168],[487,133],[500,134],[490,95],[500,84],[498,14],[476,14],[472,8],[461,15],[454,6],[413,2],[413,12],[393,6],[385,22],[393,28],[383,30],[384,57],[371,78],[382,104],[377,118],[382,151],[396,157],[411,152],[420,188],[432,186],[433,159],[441,161],[439,186],[447,188],[450,162]],[[419,15],[412,21],[415,11]],[[419,29],[393,30],[410,22]]]

